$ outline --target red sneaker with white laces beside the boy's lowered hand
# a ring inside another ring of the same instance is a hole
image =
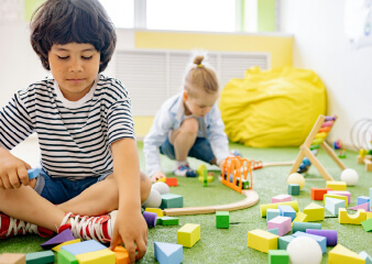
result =
[[[112,237],[112,230],[118,211],[99,217],[87,217],[67,213],[58,228],[58,233],[70,229],[75,239],[96,240],[101,243],[109,243]],[[69,219],[69,223],[67,223]]]

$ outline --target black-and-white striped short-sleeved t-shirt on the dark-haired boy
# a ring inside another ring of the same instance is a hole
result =
[[[98,75],[78,101],[66,100],[54,79],[18,91],[0,111],[0,146],[12,150],[36,132],[41,165],[52,177],[81,179],[112,173],[110,144],[134,139],[131,101],[114,78]]]

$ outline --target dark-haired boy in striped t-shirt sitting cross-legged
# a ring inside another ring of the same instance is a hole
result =
[[[69,228],[111,249],[123,242],[131,262],[145,254],[141,202],[151,183],[140,173],[131,102],[100,74],[116,41],[98,0],[48,0],[34,12],[32,47],[53,79],[17,92],[0,112],[1,239]],[[29,180],[30,165],[9,151],[33,132],[42,173]]]

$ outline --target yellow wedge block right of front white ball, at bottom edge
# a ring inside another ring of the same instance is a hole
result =
[[[329,253],[328,253],[328,264],[364,264],[365,260],[360,257],[355,252],[352,252],[344,248],[341,244],[337,244]]]

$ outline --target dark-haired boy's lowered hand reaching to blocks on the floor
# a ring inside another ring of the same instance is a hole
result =
[[[130,263],[134,263],[146,253],[147,234],[147,224],[140,210],[119,210],[113,227],[110,249],[114,250],[118,244],[124,243]]]

